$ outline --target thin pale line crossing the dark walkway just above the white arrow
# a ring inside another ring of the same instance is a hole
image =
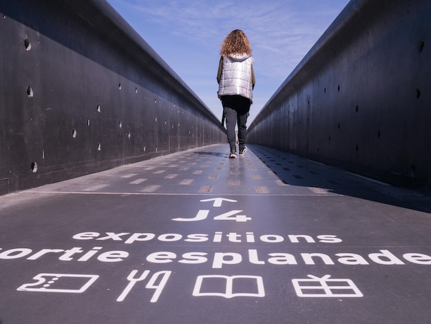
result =
[[[25,190],[25,192],[30,194],[107,194],[107,195],[123,195],[127,194],[130,196],[304,196],[304,197],[322,197],[322,196],[342,196],[340,194],[205,194],[205,193],[196,193],[196,194],[179,194],[179,193],[157,193],[157,192],[73,192],[73,191],[35,191],[35,190]],[[21,192],[21,193],[25,193]]]

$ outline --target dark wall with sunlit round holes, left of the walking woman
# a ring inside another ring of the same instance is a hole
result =
[[[0,0],[0,194],[226,141],[109,6]]]

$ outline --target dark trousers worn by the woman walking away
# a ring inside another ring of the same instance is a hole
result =
[[[235,125],[238,124],[238,143],[244,148],[247,136],[247,117],[249,117],[250,100],[241,96],[222,96],[224,118],[226,119],[227,142],[235,148]]]

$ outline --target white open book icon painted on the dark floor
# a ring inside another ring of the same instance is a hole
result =
[[[264,282],[261,276],[198,276],[193,296],[264,297]]]

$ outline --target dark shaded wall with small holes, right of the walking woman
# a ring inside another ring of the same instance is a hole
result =
[[[430,185],[430,17],[428,0],[350,1],[250,125],[249,141]]]

